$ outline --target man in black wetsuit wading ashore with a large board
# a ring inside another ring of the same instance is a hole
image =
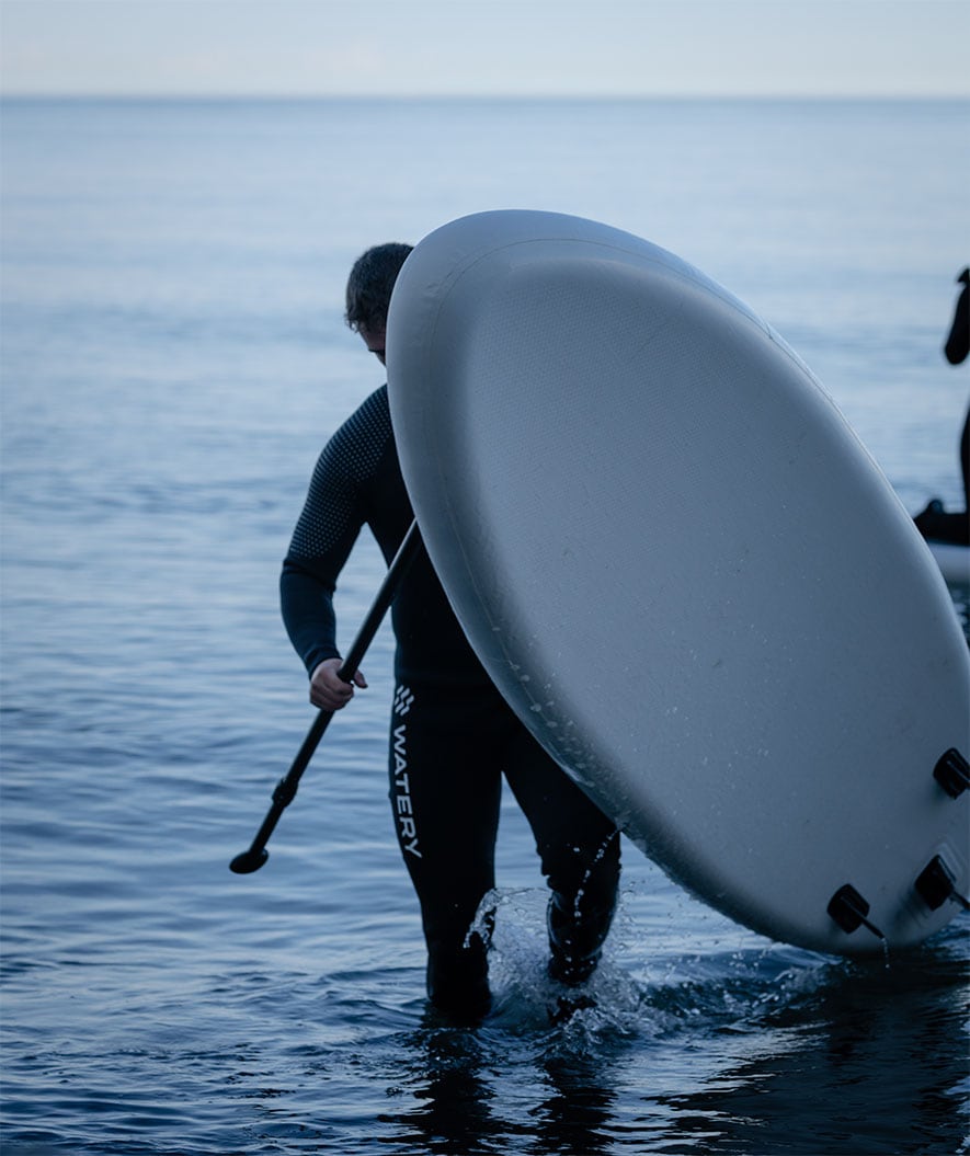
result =
[[[409,252],[410,246],[398,244],[370,249],[347,282],[346,321],[382,364],[391,290]],[[354,697],[354,686],[336,676],[333,593],[361,528],[370,527],[390,563],[412,519],[384,385],[320,454],[283,562],[283,621],[310,675],[316,706],[335,711]],[[565,988],[584,984],[616,904],[619,831],[505,704],[466,642],[423,549],[391,613],[397,642],[391,809],[421,906],[430,1005],[471,1022],[491,1005],[494,916],[476,922],[476,912],[495,887],[503,772],[530,822],[551,891],[549,976]],[[366,686],[360,672],[354,684]],[[562,1002],[570,1006],[565,992]]]

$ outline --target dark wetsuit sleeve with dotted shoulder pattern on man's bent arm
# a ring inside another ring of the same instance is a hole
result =
[[[365,401],[325,446],[283,561],[283,623],[308,674],[340,657],[333,594],[368,520],[370,482],[390,436],[377,398]]]

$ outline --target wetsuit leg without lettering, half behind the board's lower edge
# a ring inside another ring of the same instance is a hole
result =
[[[599,963],[620,885],[620,832],[517,724],[506,778],[535,836],[551,896],[549,975],[585,983]]]

